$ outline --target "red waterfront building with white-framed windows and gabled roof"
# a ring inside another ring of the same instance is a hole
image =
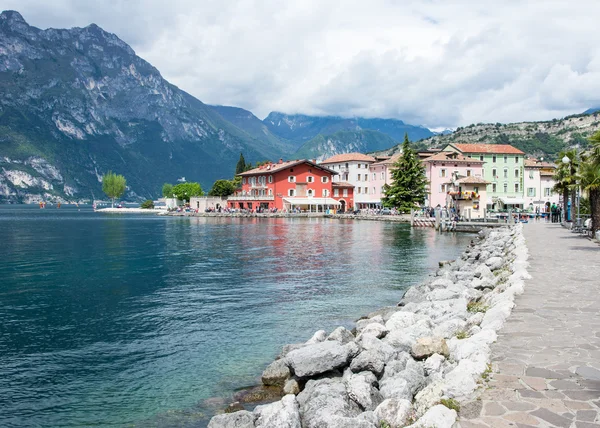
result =
[[[308,160],[269,163],[239,174],[242,188],[227,199],[229,208],[324,212],[352,207],[353,187],[335,183],[337,172]],[[341,185],[341,186],[340,186]]]

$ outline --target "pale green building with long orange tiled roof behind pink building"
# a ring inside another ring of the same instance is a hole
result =
[[[487,206],[491,209],[524,208],[525,153],[508,144],[451,143],[443,151],[453,151],[485,163]]]

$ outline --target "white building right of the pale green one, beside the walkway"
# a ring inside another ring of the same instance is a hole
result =
[[[559,195],[552,189],[556,184],[554,172],[556,166],[543,159],[525,159],[525,208],[540,212],[549,212],[550,206],[558,204]]]

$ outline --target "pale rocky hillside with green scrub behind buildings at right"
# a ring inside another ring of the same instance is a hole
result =
[[[449,143],[510,144],[532,156],[554,159],[568,147],[586,148],[587,138],[600,131],[600,112],[567,116],[542,122],[518,122],[509,124],[478,123],[447,135],[436,135],[419,141],[422,148],[444,147]],[[392,155],[401,145],[383,150],[375,155]]]

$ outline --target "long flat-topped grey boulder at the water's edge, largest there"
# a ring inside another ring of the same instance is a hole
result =
[[[285,359],[296,376],[309,377],[347,366],[358,351],[354,342],[326,340],[291,351]]]

